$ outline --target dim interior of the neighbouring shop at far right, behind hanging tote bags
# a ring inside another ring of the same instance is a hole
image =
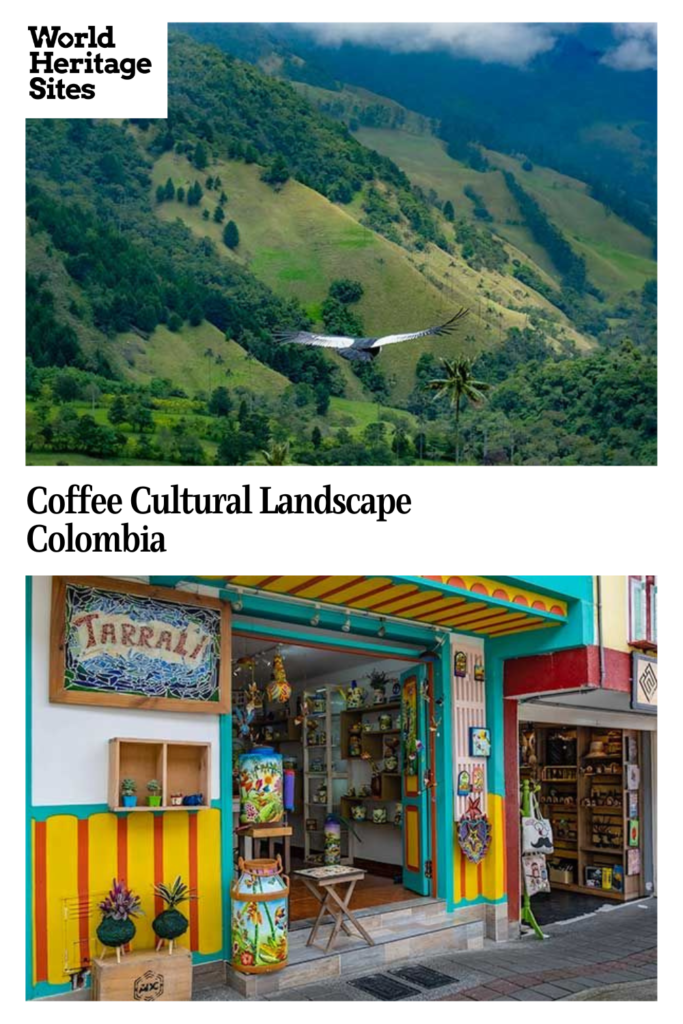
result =
[[[552,892],[533,897],[541,925],[642,895],[640,733],[523,722],[520,778],[553,827]]]

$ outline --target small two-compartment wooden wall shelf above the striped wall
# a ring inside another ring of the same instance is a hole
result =
[[[124,807],[121,782],[132,778],[137,784],[137,805]],[[160,807],[150,807],[147,782],[162,784]],[[204,796],[198,805],[170,803],[171,795]],[[211,807],[211,743],[176,739],[110,739],[109,807],[119,813],[154,811],[201,811]]]

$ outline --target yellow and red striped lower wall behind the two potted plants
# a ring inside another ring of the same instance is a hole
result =
[[[189,928],[179,940],[198,958],[222,953],[220,810],[79,817],[56,813],[32,821],[33,984],[63,985],[99,955],[95,901],[113,879],[142,900],[133,948],[153,948],[152,922],[162,909],[153,886],[182,876],[199,899],[183,909]]]

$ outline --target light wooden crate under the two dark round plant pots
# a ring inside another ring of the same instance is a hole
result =
[[[99,1001],[188,1001],[193,997],[193,954],[182,946],[172,953],[154,949],[112,952],[92,962],[92,997]]]

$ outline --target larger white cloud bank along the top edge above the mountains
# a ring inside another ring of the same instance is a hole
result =
[[[485,62],[522,66],[552,50],[558,36],[571,31],[563,25],[453,23],[434,25],[340,25],[317,23],[298,28],[325,46],[358,43],[398,53],[449,49],[459,56]]]

